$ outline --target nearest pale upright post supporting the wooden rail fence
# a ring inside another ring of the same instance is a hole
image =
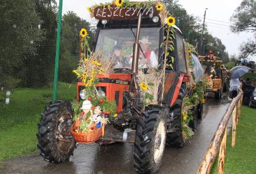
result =
[[[219,148],[218,174],[224,173],[224,164],[225,164],[225,157],[226,157],[226,140],[227,140],[227,126],[221,142],[221,147]]]

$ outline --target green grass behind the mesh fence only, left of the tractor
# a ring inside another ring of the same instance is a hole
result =
[[[57,99],[72,101],[76,99],[76,85],[60,82]],[[18,88],[11,91],[10,103],[0,102],[0,130],[21,124],[40,115],[52,100],[52,87]]]

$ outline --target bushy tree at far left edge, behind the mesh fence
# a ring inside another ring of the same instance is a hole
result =
[[[0,82],[13,87],[19,82],[24,54],[33,55],[42,41],[38,30],[40,17],[35,12],[34,0],[0,1]]]

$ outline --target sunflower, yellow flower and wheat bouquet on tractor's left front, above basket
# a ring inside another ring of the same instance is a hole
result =
[[[86,45],[86,34],[87,31],[82,28],[80,35],[84,38],[81,44],[81,47]],[[116,111],[116,104],[113,101],[109,101],[106,99],[106,96],[101,96],[96,89],[96,85],[99,82],[99,77],[102,74],[112,73],[114,67],[114,60],[112,57],[109,59],[105,59],[102,56],[102,52],[99,50],[98,52],[94,52],[91,56],[86,57],[84,54],[86,49],[82,49],[81,59],[79,61],[79,66],[76,70],[73,70],[73,73],[77,75],[77,78],[80,79],[84,84],[84,91],[87,95],[87,100],[91,102],[93,108],[101,107],[102,111],[108,111],[109,116],[113,117]]]

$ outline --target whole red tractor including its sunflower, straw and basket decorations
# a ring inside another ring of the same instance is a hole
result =
[[[193,135],[204,82],[193,83],[182,32],[162,3],[120,0],[88,10],[99,21],[92,51],[80,31],[77,101],[46,107],[40,154],[59,163],[76,143],[130,142],[136,171],[155,173],[165,144],[183,147]]]

